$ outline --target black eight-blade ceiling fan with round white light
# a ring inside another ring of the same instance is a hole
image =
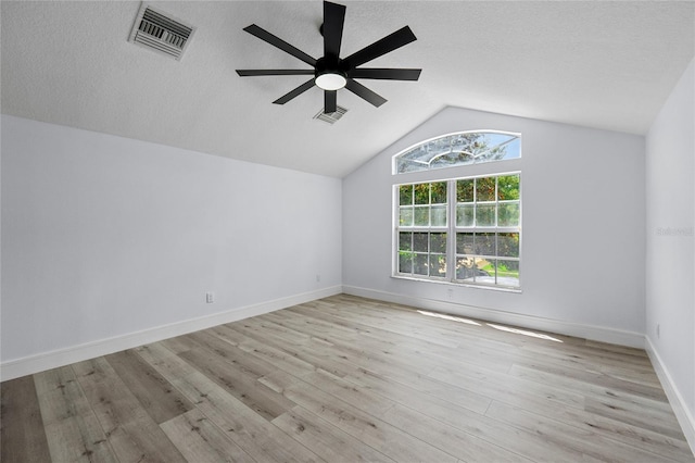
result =
[[[315,59],[302,50],[286,42],[279,37],[268,33],[262,27],[252,24],[244,27],[248,32],[270,43],[274,47],[295,57],[313,70],[237,70],[242,77],[251,76],[280,76],[280,75],[313,75],[313,77],[290,92],[274,101],[275,104],[285,104],[293,98],[305,92],[314,85],[324,90],[324,112],[332,113],[337,110],[337,92],[346,88],[356,96],[363,98],[375,107],[380,107],[387,100],[357,83],[357,78],[387,79],[387,80],[417,80],[422,70],[414,68],[388,68],[388,67],[357,67],[376,58],[389,53],[397,48],[417,40],[408,26],[383,37],[380,40],[363,48],[350,57],[340,58],[340,43],[343,37],[343,24],[345,22],[345,7],[324,1],[324,24],[320,32],[324,35],[324,55]]]

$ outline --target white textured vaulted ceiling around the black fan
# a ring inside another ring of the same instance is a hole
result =
[[[692,1],[342,2],[341,55],[409,25],[367,65],[424,71],[362,80],[379,109],[340,90],[329,125],[317,88],[271,104],[306,76],[235,73],[306,68],[242,28],[318,58],[321,2],[150,3],[198,27],[180,62],[127,41],[140,2],[3,0],[2,113],[342,177],[447,105],[644,134],[695,55]]]

